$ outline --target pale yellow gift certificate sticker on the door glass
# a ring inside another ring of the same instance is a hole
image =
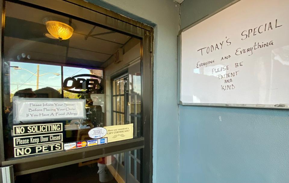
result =
[[[105,126],[107,142],[122,141],[133,138],[133,123],[127,125]]]

